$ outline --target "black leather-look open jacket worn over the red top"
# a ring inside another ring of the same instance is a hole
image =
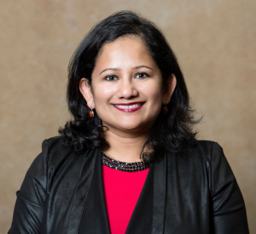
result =
[[[100,148],[77,155],[61,137],[44,140],[42,148],[16,193],[9,234],[110,233]],[[198,140],[188,157],[163,153],[149,168],[125,233],[249,233],[222,148]]]

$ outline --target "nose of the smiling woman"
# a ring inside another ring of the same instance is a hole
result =
[[[136,97],[138,91],[132,79],[124,79],[119,85],[119,98],[131,99]]]

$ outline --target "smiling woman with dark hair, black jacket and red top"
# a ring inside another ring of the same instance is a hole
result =
[[[248,233],[223,150],[195,140],[183,74],[165,37],[122,11],[69,66],[73,121],[44,140],[9,233]]]

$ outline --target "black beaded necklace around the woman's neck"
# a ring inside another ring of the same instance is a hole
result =
[[[108,168],[115,168],[120,171],[136,172],[148,169],[151,164],[151,161],[146,160],[137,163],[124,163],[116,161],[102,152],[102,164],[104,164]]]

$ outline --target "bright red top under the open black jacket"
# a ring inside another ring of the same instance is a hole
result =
[[[143,190],[148,169],[124,172],[102,165],[108,222],[112,234],[123,234]]]

